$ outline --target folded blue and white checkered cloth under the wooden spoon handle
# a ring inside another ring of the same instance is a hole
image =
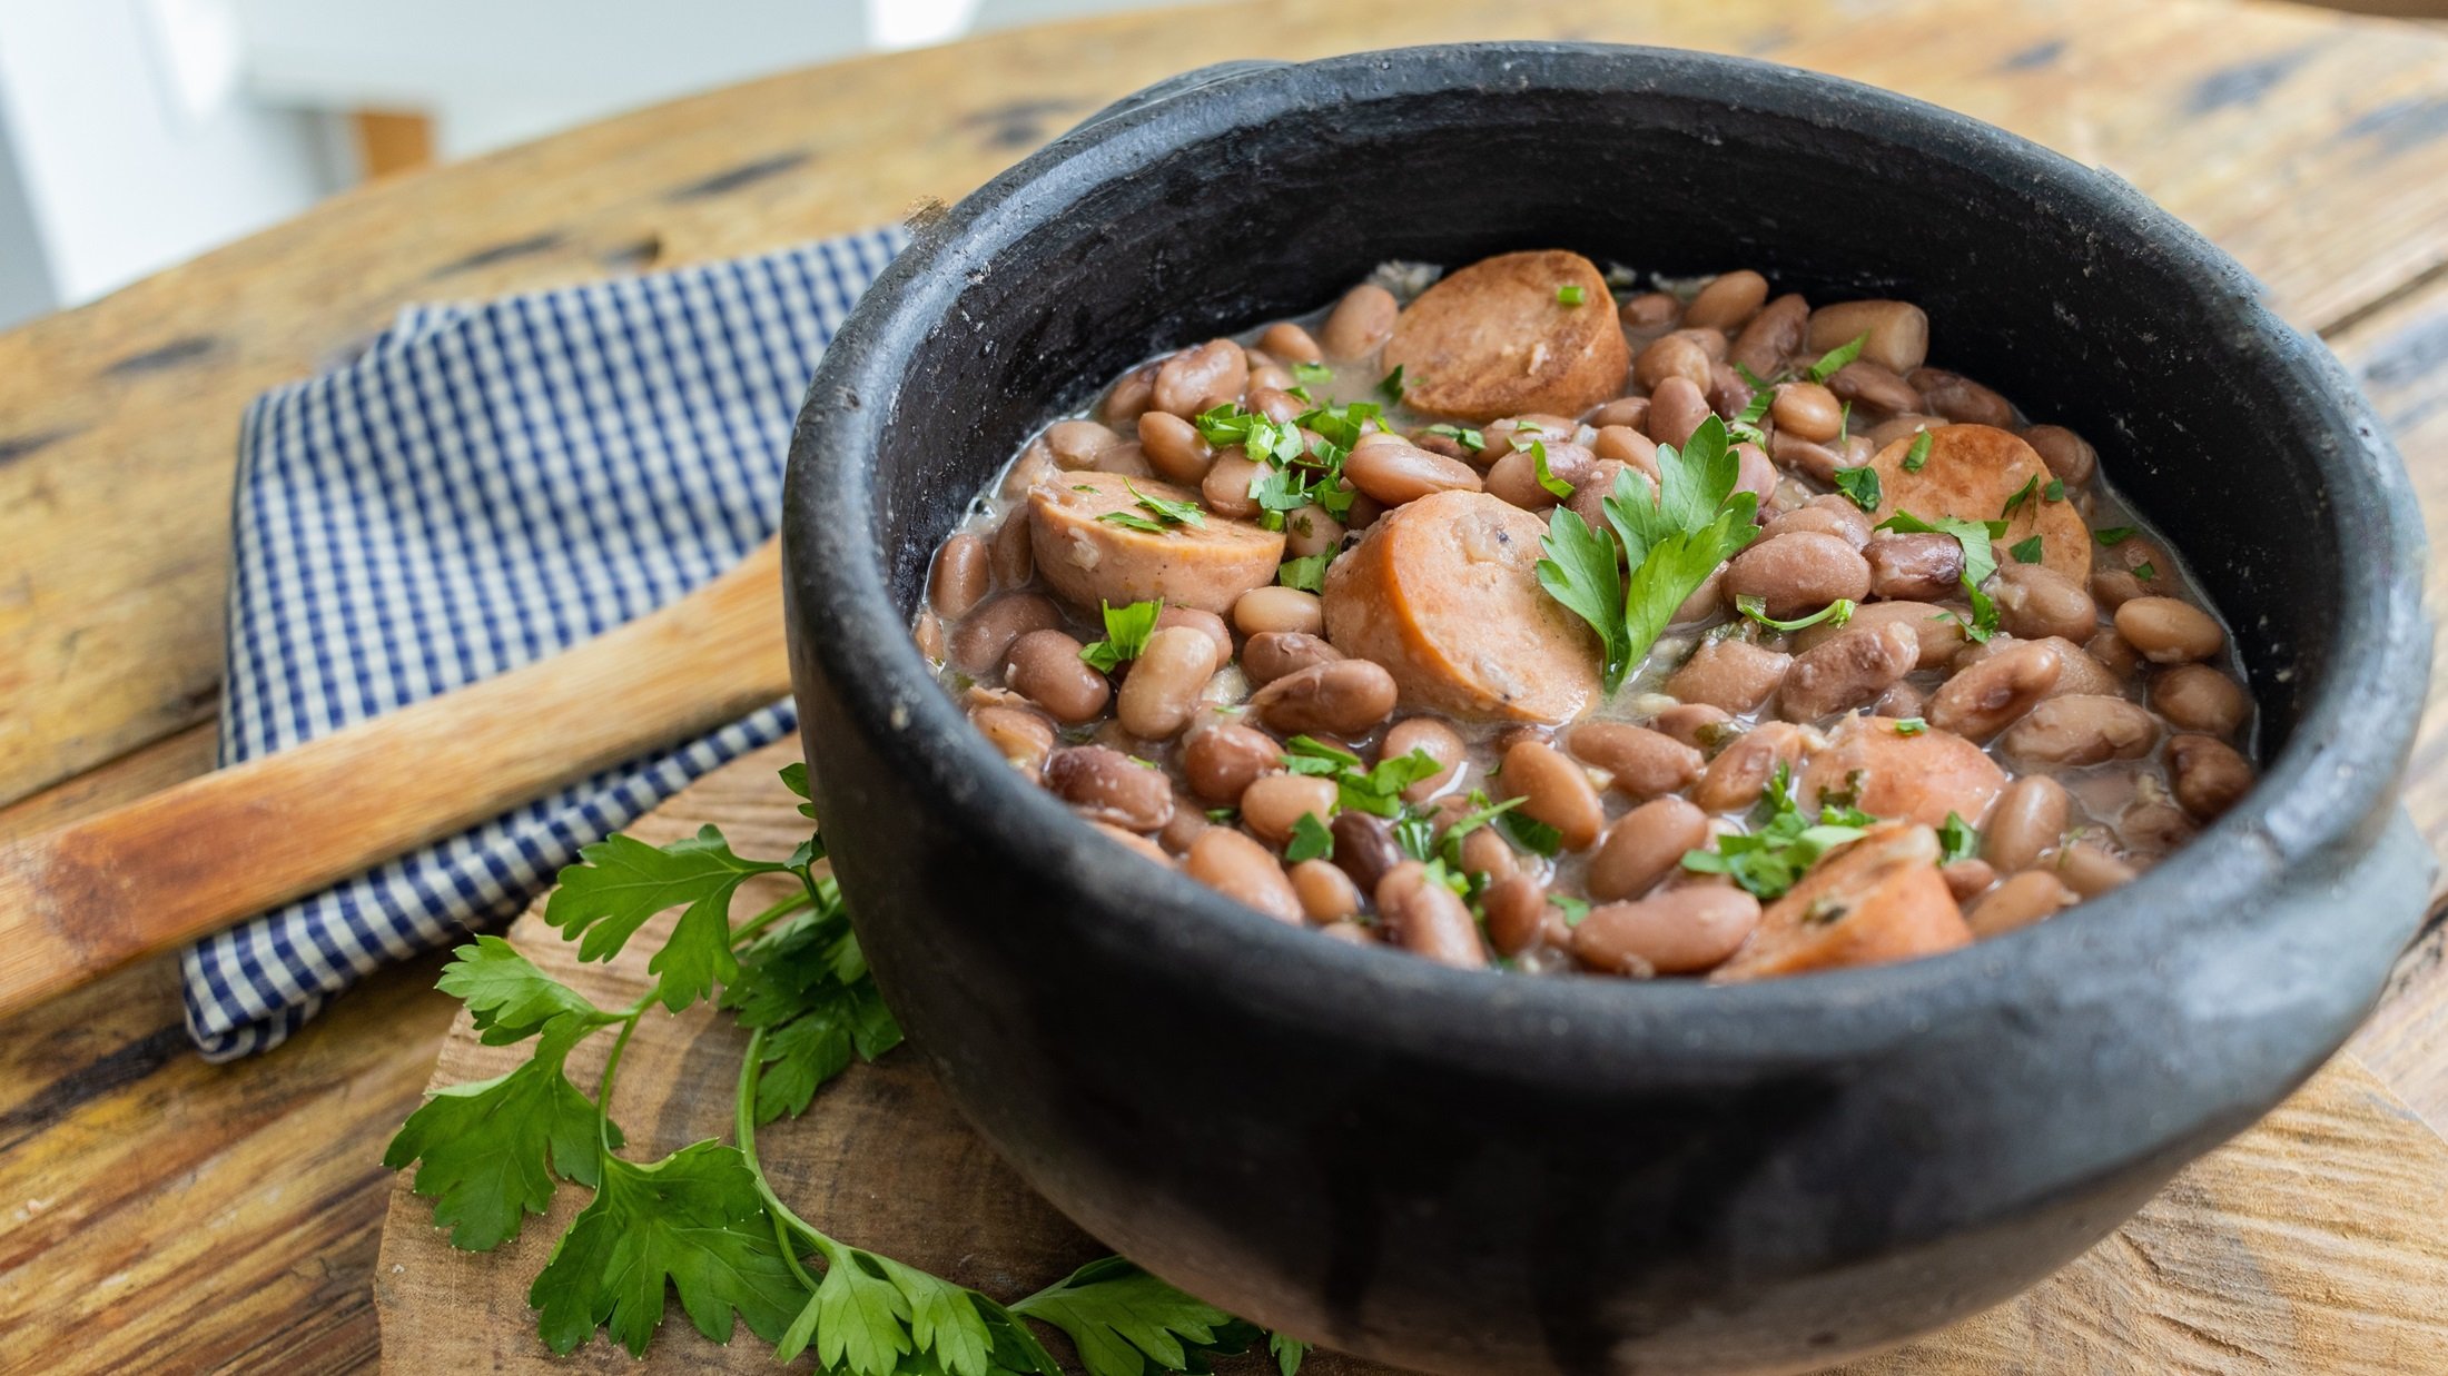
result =
[[[756,548],[815,360],[901,242],[411,306],[345,367],[264,394],[237,455],[220,761],[543,659]],[[198,943],[188,1033],[208,1060],[279,1045],[791,725],[766,708]]]

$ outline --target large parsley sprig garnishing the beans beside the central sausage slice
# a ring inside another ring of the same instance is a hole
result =
[[[1625,468],[1591,526],[1557,509],[1540,541],[1537,583],[1599,632],[1606,690],[1623,688],[1701,583],[1758,534],[1758,495],[1736,492],[1741,458],[1709,416],[1682,448],[1657,446],[1660,482]],[[1621,541],[1621,544],[1618,544]],[[1621,566],[1618,566],[1621,551]],[[1625,568],[1630,575],[1625,578]]]

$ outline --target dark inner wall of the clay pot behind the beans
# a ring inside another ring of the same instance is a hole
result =
[[[1322,306],[1388,257],[1572,247],[1667,274],[1755,267],[1812,301],[1919,301],[1931,365],[2088,436],[2179,544],[2252,666],[2264,749],[2316,690],[2343,551],[2306,446],[2335,441],[2286,433],[2269,380],[2223,362],[2245,343],[2208,323],[2223,286],[2095,206],[1875,120],[1665,93],[1388,88],[1273,125],[1222,105],[1173,152],[1143,127],[1075,159],[1050,179],[1077,189],[1060,208],[1004,211],[1016,237],[894,402],[881,544],[906,610],[960,514],[942,495],[974,492],[1133,360]]]

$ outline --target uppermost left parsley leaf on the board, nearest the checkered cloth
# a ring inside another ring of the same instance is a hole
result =
[[[663,950],[646,962],[646,970],[661,974],[656,996],[671,1011],[739,974],[732,957],[732,894],[754,874],[786,869],[739,859],[715,828],[666,847],[614,832],[578,857],[580,864],[561,872],[561,886],[543,903],[543,921],[578,940],[578,960],[612,960],[646,918],[685,903]]]

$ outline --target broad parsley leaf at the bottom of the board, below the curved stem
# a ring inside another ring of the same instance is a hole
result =
[[[602,1161],[595,1200],[526,1290],[541,1310],[543,1344],[568,1356],[607,1327],[644,1356],[663,1322],[666,1283],[705,1337],[730,1342],[737,1310],[756,1337],[778,1339],[805,1290],[774,1241],[739,1148],[700,1141],[649,1165]]]

